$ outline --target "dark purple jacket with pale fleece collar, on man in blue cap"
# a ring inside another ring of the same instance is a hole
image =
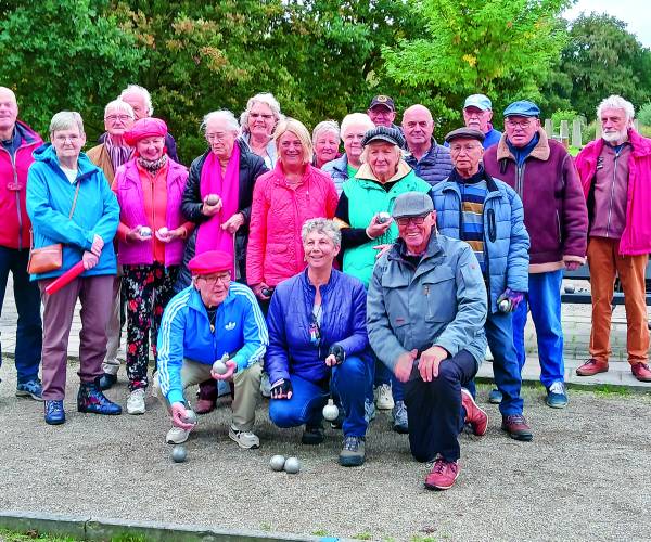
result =
[[[518,167],[503,134],[484,153],[484,168],[515,189],[524,206],[531,237],[529,273],[556,271],[565,261],[585,263],[588,211],[578,173],[567,151],[549,141],[545,130]]]

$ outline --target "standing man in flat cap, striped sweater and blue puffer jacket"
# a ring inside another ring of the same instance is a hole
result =
[[[488,291],[484,330],[501,393],[501,427],[516,440],[532,440],[532,430],[522,415],[522,378],[511,318],[528,289],[529,241],[522,202],[513,189],[493,179],[482,167],[483,132],[460,128],[445,140],[450,145],[455,169],[430,193],[438,231],[465,241],[475,253]]]

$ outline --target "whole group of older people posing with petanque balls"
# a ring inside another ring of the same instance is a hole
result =
[[[16,395],[43,400],[48,424],[65,422],[79,300],[79,412],[122,413],[103,391],[117,380],[126,320],[127,412],[145,412],[152,384],[167,442],[184,442],[195,413],[231,393],[230,438],[259,447],[261,391],[273,424],[304,426],[304,444],[323,441],[322,409],[336,404],[339,462],[357,466],[375,409],[392,410],[413,456],[433,462],[425,486],[448,489],[460,431],[486,431],[473,378],[487,347],[501,428],[533,438],[521,396],[529,311],[546,402],[567,404],[561,281],[586,257],[593,326],[577,374],[608,371],[618,276],[631,371],[651,382],[651,140],[620,96],[599,105],[602,136],[576,159],[547,137],[535,103],[510,104],[501,133],[483,94],[465,100],[465,126],[444,144],[420,104],[398,127],[394,101],[378,95],[310,136],[257,94],[240,120],[204,117],[207,150],[189,169],[142,87],[106,105],[106,131],[86,154],[78,113],[55,114],[46,144],[17,116],[0,87],[0,283],[4,294],[11,271]]]

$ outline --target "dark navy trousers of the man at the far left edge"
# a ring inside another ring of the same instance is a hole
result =
[[[18,384],[38,378],[43,340],[40,293],[36,283],[29,282],[29,274],[27,273],[28,259],[29,250],[27,248],[17,250],[0,246],[0,313],[10,271],[13,274],[14,299],[18,312],[15,349]],[[2,364],[1,351],[0,364]]]

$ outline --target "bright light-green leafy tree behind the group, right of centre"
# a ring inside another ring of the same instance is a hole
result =
[[[565,43],[556,24],[566,0],[423,0],[426,39],[385,47],[387,73],[405,85],[429,86],[460,118],[464,96],[483,92],[494,106],[537,100],[539,83]]]

